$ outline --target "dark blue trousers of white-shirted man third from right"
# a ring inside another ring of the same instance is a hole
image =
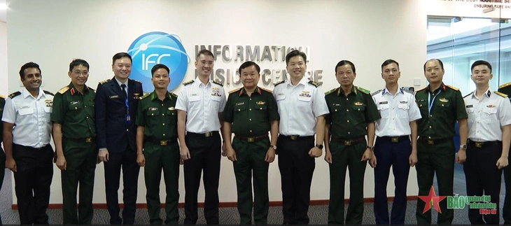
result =
[[[374,168],[374,218],[377,224],[405,224],[406,188],[408,183],[408,158],[412,153],[409,139],[391,139],[377,137],[374,144],[374,155],[377,166]],[[394,174],[394,201],[390,220],[388,218],[387,182],[388,174]]]

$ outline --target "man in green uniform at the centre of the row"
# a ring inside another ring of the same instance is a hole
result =
[[[270,90],[258,87],[260,67],[255,62],[239,66],[243,87],[232,90],[222,114],[227,157],[235,169],[240,225],[266,225],[268,218],[268,167],[275,159],[279,111]],[[268,139],[268,131],[271,139]],[[231,142],[231,133],[235,139]]]

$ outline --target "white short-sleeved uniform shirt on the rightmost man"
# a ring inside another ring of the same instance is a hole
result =
[[[511,124],[511,103],[491,90],[481,99],[475,92],[463,97],[468,114],[468,139],[475,142],[502,141],[502,129]]]

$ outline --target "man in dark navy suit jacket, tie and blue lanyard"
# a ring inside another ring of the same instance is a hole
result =
[[[113,225],[134,223],[137,202],[137,143],[134,124],[142,83],[128,78],[132,57],[126,52],[113,55],[114,77],[99,82],[96,90],[96,134],[99,160],[104,162],[106,206]],[[123,168],[123,218],[119,217],[118,190],[120,169]]]

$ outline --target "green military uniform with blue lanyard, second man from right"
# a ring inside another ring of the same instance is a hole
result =
[[[419,196],[429,194],[433,176],[437,176],[438,194],[452,195],[454,180],[454,124],[456,120],[468,118],[461,92],[456,87],[440,85],[430,91],[429,85],[415,93],[422,118],[417,120],[417,183]],[[463,141],[462,141],[463,142]],[[417,201],[417,224],[430,224],[431,211],[423,213],[425,203]],[[447,199],[440,202],[438,224],[450,224],[454,218],[452,209],[447,209]]]

